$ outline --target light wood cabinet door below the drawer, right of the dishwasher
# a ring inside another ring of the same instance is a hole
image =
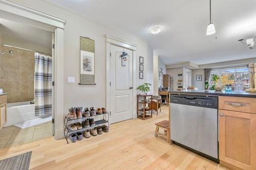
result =
[[[219,110],[220,161],[256,169],[256,114]]]

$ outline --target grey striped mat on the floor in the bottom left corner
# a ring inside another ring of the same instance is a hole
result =
[[[31,152],[13,156],[0,161],[0,169],[5,170],[28,170],[31,158]]]

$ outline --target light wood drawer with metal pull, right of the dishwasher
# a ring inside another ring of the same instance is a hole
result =
[[[256,113],[256,99],[219,96],[219,109]]]

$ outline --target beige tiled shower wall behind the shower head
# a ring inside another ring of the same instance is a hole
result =
[[[34,52],[0,45],[0,51],[12,50],[0,56],[0,88],[7,92],[7,103],[34,100]]]

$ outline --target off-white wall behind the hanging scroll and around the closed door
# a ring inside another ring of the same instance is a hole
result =
[[[121,30],[110,28],[100,23],[86,19],[74,12],[63,9],[49,2],[42,0],[14,0],[19,4],[23,4],[30,8],[49,13],[51,15],[65,19],[66,25],[64,29],[64,90],[63,90],[63,103],[64,110],[68,113],[68,108],[72,106],[83,107],[105,107],[106,105],[106,38],[105,35],[110,35],[127,42],[138,45],[137,47],[137,64],[136,64],[136,80],[137,86],[150,81],[152,72],[147,74],[147,61],[150,49],[147,42],[127,34]],[[95,83],[96,85],[78,85],[79,83],[79,65],[80,65],[80,42],[79,37],[89,37],[95,40]],[[153,52],[151,52],[153,54]],[[151,54],[149,56],[151,56]],[[144,57],[144,79],[139,79],[139,56]],[[152,59],[150,59],[152,60]],[[149,66],[151,67],[151,66]],[[74,84],[68,84],[68,76],[75,77]],[[148,77],[148,79],[147,79]],[[136,87],[134,87],[135,89]],[[134,101],[136,102],[136,101]],[[107,108],[109,109],[109,108]],[[61,120],[63,121],[63,120]]]

